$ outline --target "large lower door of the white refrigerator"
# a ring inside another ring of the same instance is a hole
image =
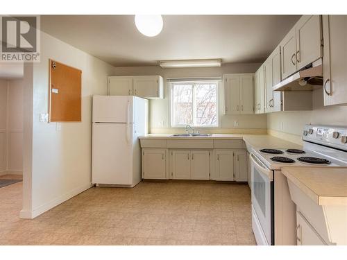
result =
[[[93,123],[93,184],[133,184],[132,125]]]

